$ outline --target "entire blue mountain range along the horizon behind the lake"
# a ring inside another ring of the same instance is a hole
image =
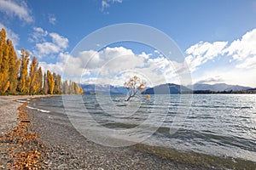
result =
[[[96,84],[81,84],[81,88],[84,90],[84,94],[127,94],[128,90],[123,87],[117,87],[112,85],[96,85]],[[191,93],[193,91],[241,91],[241,90],[253,90],[254,88],[229,85],[225,83],[206,84],[196,83],[193,86],[182,86],[174,83],[166,83],[155,86],[154,88],[146,88],[143,94],[182,94]]]

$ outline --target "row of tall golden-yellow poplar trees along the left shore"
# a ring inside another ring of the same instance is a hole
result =
[[[43,75],[36,57],[24,48],[20,59],[15,53],[11,40],[6,40],[6,31],[0,32],[0,94],[83,94],[79,84],[61,82],[61,76],[47,71]]]

